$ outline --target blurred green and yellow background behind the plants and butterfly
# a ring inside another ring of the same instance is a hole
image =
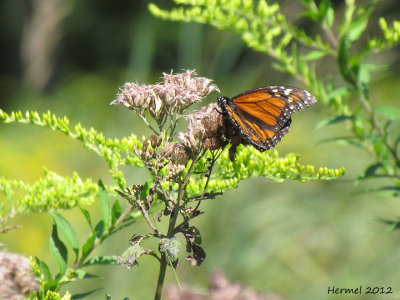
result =
[[[167,0],[154,3],[172,7]],[[343,1],[334,3],[340,14]],[[2,0],[0,108],[6,112],[51,110],[107,137],[131,132],[141,136],[149,131],[131,111],[109,105],[127,81],[155,82],[171,69],[196,69],[200,76],[214,79],[222,94],[230,97],[264,85],[301,87],[275,71],[271,59],[246,48],[234,33],[161,21],[149,14],[147,4],[138,0]],[[280,4],[294,24],[304,26],[300,1]],[[379,3],[372,18],[378,16],[398,18],[400,3]],[[313,30],[313,24],[305,25]],[[369,31],[379,33],[377,28]],[[373,80],[375,103],[398,105],[398,50],[371,58],[374,63],[388,64]],[[334,64],[319,67],[321,72],[338,74]],[[207,98],[207,103],[215,101],[216,95]],[[392,295],[368,299],[400,297],[400,236],[378,220],[399,215],[398,199],[363,192],[384,180],[355,185],[354,179],[371,163],[371,157],[356,148],[323,143],[347,134],[342,125],[315,130],[327,116],[329,108],[322,104],[296,115],[290,134],[277,150],[281,155],[299,153],[304,163],[318,167],[344,166],[346,176],[330,182],[279,184],[252,179],[204,203],[206,213],[194,224],[202,232],[207,259],[201,267],[190,267],[182,255],[178,276],[184,284],[204,292],[219,269],[233,282],[287,299],[343,299],[343,295],[328,295],[328,287],[360,285],[393,288]],[[43,175],[43,166],[65,176],[77,171],[82,178],[112,183],[105,162],[77,141],[43,128],[0,125],[0,175],[34,182]],[[144,182],[142,170],[125,171],[129,184]],[[98,211],[97,205],[90,209]],[[80,229],[81,241],[87,238],[89,229],[79,212],[63,215]],[[0,236],[4,248],[38,256],[56,268],[48,250],[50,216],[18,216],[12,223],[23,228]],[[144,226],[135,224],[121,231],[100,248],[101,253],[121,254],[131,234],[145,230]],[[103,288],[89,299],[102,298],[106,292],[113,299],[150,299],[158,265],[144,257],[132,270],[110,266],[90,271],[101,277],[71,284],[68,289],[74,293]],[[174,284],[170,272],[167,282]],[[352,295],[346,299],[366,298]]]

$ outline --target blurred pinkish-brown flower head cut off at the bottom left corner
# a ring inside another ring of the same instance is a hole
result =
[[[0,299],[23,299],[38,289],[26,257],[0,252]]]

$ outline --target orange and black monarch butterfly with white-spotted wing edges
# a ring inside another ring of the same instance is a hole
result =
[[[292,114],[316,102],[310,92],[291,86],[253,89],[232,99],[219,96],[218,105],[230,125],[231,155],[234,157],[240,143],[251,144],[261,152],[275,147],[289,132]]]

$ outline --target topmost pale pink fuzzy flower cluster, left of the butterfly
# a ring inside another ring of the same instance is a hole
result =
[[[161,83],[151,85],[125,83],[118,98],[111,104],[122,104],[140,116],[148,110],[155,120],[161,122],[166,114],[181,113],[211,92],[219,91],[211,79],[196,77],[194,70],[178,74],[173,74],[171,71],[170,74],[163,75]]]

